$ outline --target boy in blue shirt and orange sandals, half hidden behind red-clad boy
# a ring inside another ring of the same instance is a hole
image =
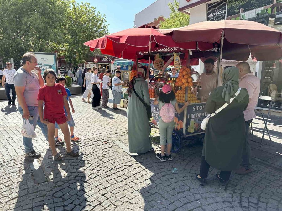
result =
[[[58,76],[58,78],[57,78],[57,80],[56,80],[56,83],[60,83],[60,84],[62,84],[63,86],[65,86],[65,82],[66,82],[66,79],[65,79],[65,77],[64,76]],[[72,113],[74,113],[75,111],[74,111],[74,108],[73,108],[73,105],[72,105],[72,101],[71,101],[71,99],[70,99],[70,96],[71,96],[71,93],[70,93],[70,90],[68,89],[68,88],[65,88],[65,91],[67,92],[67,101],[69,101],[69,103],[70,103],[70,107],[71,107],[71,110],[72,110]],[[65,107],[64,107],[64,109],[65,109]],[[67,111],[66,111],[66,109],[65,109],[65,115],[67,116]],[[74,123],[74,121],[73,121],[73,118],[72,118],[72,115],[70,114],[70,121],[68,121],[68,124],[69,124],[69,126],[70,126],[70,138],[71,138],[71,140],[72,141],[78,141],[80,138],[78,138],[77,136],[75,136],[74,134],[73,134],[73,131],[74,131],[74,126],[75,126],[75,123]],[[59,125],[56,123],[55,124],[55,139],[56,140],[58,140],[58,141],[60,141],[60,140],[62,140],[61,138],[59,138],[59,136],[58,136],[58,130],[59,130]]]

